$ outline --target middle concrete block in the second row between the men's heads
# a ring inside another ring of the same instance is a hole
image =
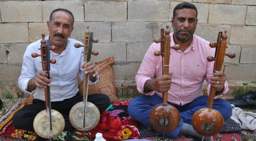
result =
[[[112,42],[152,42],[150,22],[117,22],[112,24]]]

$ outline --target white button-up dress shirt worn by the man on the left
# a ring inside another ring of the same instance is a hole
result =
[[[49,42],[49,36],[45,38]],[[27,93],[34,93],[34,98],[41,99],[45,101],[45,90],[43,88],[37,87],[32,92],[28,91],[28,81],[35,76],[35,74],[42,70],[41,57],[32,58],[31,54],[33,52],[41,54],[40,48],[41,40],[28,45],[24,56],[21,74],[19,77],[19,87],[20,89]],[[50,64],[50,96],[51,101],[63,101],[64,99],[71,98],[75,96],[78,92],[78,72],[80,71],[81,79],[83,79],[83,47],[75,48],[74,44],[81,42],[68,38],[67,46],[61,54],[54,53],[50,51],[50,59],[55,59],[55,64]],[[98,76],[96,76],[96,81],[93,83],[89,81],[89,85],[94,85],[98,81]]]

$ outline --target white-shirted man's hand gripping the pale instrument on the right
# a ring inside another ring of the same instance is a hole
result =
[[[81,65],[81,67],[85,69],[85,74],[89,75],[89,80],[95,82],[96,76],[98,75],[96,64],[93,61],[89,61],[88,63]]]

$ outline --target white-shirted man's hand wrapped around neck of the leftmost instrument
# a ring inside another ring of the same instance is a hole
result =
[[[50,86],[51,81],[47,78],[48,74],[44,71],[39,71],[33,78],[28,81],[28,91],[33,91],[36,87],[46,88],[46,86]],[[50,75],[50,78],[52,76]]]

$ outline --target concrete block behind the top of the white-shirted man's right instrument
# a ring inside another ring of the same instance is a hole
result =
[[[99,43],[111,41],[110,22],[75,22],[71,38],[83,42],[86,26],[89,25],[89,31],[93,32],[93,37],[98,38]]]

